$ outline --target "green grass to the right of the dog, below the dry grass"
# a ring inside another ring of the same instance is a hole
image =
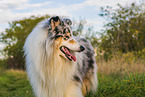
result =
[[[143,97],[145,74],[98,75],[98,92],[92,97]],[[91,97],[91,96],[88,96]]]

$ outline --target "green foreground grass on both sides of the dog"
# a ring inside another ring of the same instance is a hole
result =
[[[98,74],[96,93],[86,97],[143,97],[145,74]],[[0,97],[34,97],[26,72],[7,70],[0,73]]]

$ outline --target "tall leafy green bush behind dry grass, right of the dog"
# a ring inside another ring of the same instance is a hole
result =
[[[145,48],[145,12],[144,5],[132,3],[130,6],[121,6],[112,9],[107,6],[101,8],[100,16],[108,23],[104,26],[100,48],[105,55],[113,52],[141,51]]]

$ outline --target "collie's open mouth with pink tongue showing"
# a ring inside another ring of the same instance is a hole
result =
[[[76,57],[71,53],[71,50],[65,46],[61,46],[60,50],[65,54],[65,56],[70,60],[70,61],[76,61]]]

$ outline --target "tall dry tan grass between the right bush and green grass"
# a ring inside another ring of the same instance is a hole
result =
[[[115,55],[112,59],[105,61],[103,58],[97,58],[98,72],[101,74],[130,74],[145,73],[145,60],[139,59],[132,54],[123,56]]]

